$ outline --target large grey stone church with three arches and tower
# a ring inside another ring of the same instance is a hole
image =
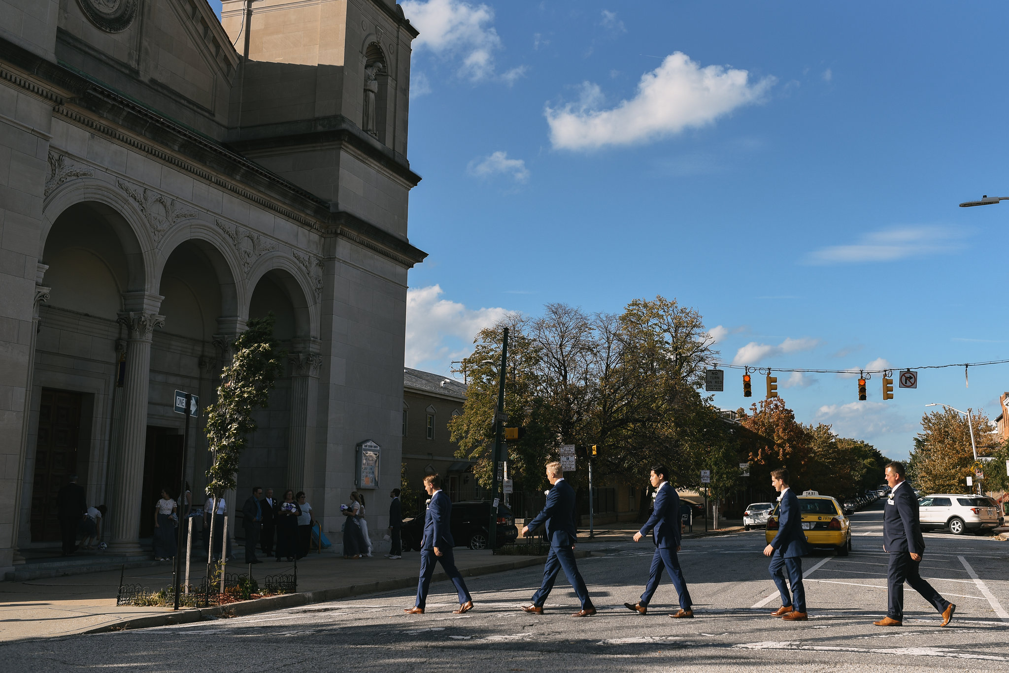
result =
[[[110,553],[140,552],[184,452],[199,506],[204,417],[184,445],[175,391],[212,402],[232,338],[269,312],[287,370],[231,530],[259,484],[305,490],[338,542],[350,490],[400,482],[417,31],[391,0],[0,16],[0,571],[59,540],[71,473],[108,507]]]

